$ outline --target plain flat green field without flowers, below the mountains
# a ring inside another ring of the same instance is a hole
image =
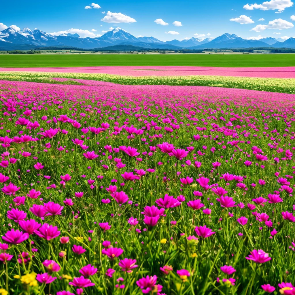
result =
[[[0,67],[86,67],[86,66],[295,66],[295,54],[40,54],[0,55]]]

